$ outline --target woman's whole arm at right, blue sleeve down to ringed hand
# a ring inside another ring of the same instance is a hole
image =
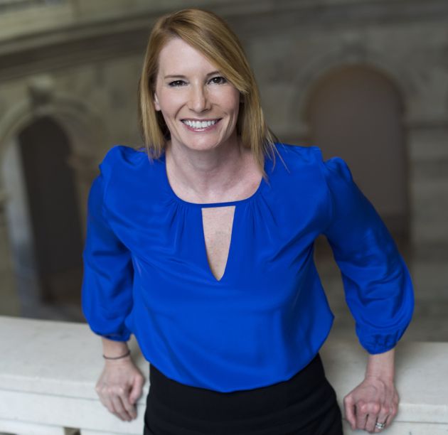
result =
[[[344,399],[352,428],[378,432],[398,409],[394,386],[395,345],[414,306],[407,267],[373,205],[341,159],[324,163],[329,187],[329,223],[324,231],[341,269],[356,333],[369,353],[366,377]]]

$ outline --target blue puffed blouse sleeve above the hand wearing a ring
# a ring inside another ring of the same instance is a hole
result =
[[[410,323],[414,296],[410,274],[373,205],[338,157],[323,163],[329,188],[326,235],[341,269],[356,333],[368,353],[383,353]]]

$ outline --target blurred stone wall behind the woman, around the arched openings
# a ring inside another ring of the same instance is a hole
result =
[[[436,269],[440,264],[436,273],[441,276],[448,257],[447,2],[192,4],[218,12],[240,35],[267,120],[283,141],[312,140],[309,100],[321,77],[335,68],[367,65],[393,82],[402,98],[407,137],[412,272],[427,285],[422,260]],[[52,117],[70,138],[84,222],[88,188],[105,151],[113,144],[140,143],[137,80],[151,24],[182,5],[180,0],[1,2],[0,163],[21,129],[36,117]],[[9,195],[3,180],[0,173],[0,213]],[[15,294],[14,255],[4,237],[9,233],[4,215],[0,222],[0,288],[6,297],[6,292]]]

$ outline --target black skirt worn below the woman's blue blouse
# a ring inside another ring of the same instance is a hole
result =
[[[216,392],[151,365],[144,435],[342,435],[341,411],[319,355],[291,379]]]

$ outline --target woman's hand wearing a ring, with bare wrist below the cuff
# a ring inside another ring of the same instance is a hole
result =
[[[398,412],[398,392],[393,382],[394,350],[369,355],[366,377],[343,399],[351,429],[370,434],[390,426]]]

